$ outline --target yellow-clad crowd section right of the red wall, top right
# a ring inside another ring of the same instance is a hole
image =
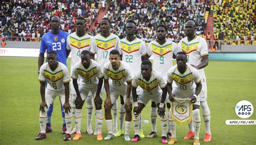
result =
[[[214,17],[214,39],[223,40],[225,44],[254,44],[254,1],[214,2],[211,14]]]

